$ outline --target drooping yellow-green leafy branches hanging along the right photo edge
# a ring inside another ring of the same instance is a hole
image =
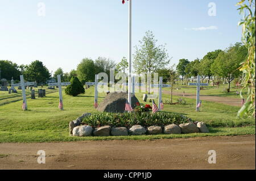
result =
[[[240,71],[243,72],[242,88],[247,90],[248,96],[237,116],[255,117],[255,2],[242,0],[237,3],[237,6],[240,6],[238,10],[243,16],[238,23],[242,26],[242,42],[248,49],[247,58],[240,67]]]

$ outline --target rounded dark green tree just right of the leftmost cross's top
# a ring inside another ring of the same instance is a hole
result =
[[[51,77],[49,70],[39,60],[31,62],[24,71],[26,81],[45,83],[49,77]]]

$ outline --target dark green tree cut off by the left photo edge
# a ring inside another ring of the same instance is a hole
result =
[[[15,80],[19,79],[20,71],[18,70],[18,65],[8,61],[0,60],[0,69],[1,69],[1,79],[6,78],[11,80],[13,77]]]

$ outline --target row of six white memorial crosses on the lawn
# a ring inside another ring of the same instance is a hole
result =
[[[95,82],[86,82],[85,85],[91,85],[95,86],[94,87],[94,103],[98,102],[98,85],[105,85],[106,83],[98,83],[98,75],[95,75]],[[23,110],[27,110],[27,99],[26,99],[26,91],[25,91],[25,86],[33,86],[35,85],[35,82],[24,82],[24,77],[23,75],[20,75],[20,83],[14,83],[11,84],[12,87],[17,87],[20,86],[22,87],[22,97],[23,97]],[[63,96],[62,96],[62,89],[61,86],[68,86],[71,85],[71,82],[61,82],[61,77],[60,75],[57,75],[57,82],[56,83],[49,83],[49,86],[58,86],[59,87],[59,102],[62,105],[61,110],[63,110]],[[127,83],[125,83],[127,85]],[[133,77],[132,79],[132,85],[133,85],[133,92],[135,90],[135,86],[143,86],[143,83],[135,83],[135,78]],[[200,87],[201,86],[208,86],[208,83],[200,83],[200,76],[197,76],[197,83],[189,83],[189,86],[197,86],[197,93],[196,93],[196,111],[199,111],[199,107],[197,106],[200,103]],[[163,77],[159,78],[159,84],[153,84],[151,85],[152,87],[159,87],[158,89],[158,108],[160,110],[160,104],[162,101],[162,87],[170,87],[170,85],[163,84]]]

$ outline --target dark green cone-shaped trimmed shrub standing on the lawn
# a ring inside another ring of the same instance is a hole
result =
[[[72,77],[70,82],[71,85],[67,86],[67,88],[65,89],[65,93],[67,95],[77,96],[79,94],[84,94],[84,86],[82,86],[82,83],[77,77]]]

